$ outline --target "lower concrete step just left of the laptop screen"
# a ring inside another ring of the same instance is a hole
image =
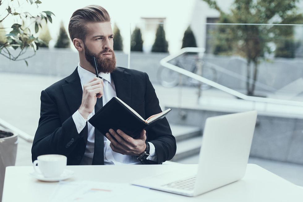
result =
[[[191,137],[187,140],[178,141],[176,154],[171,161],[177,162],[181,159],[199,154],[201,145],[202,136]]]

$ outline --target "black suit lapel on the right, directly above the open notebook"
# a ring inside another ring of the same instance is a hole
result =
[[[117,97],[130,106],[131,102],[131,75],[126,73],[124,69],[117,67],[111,73],[116,89]]]

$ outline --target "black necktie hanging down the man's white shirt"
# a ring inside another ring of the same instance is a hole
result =
[[[102,97],[97,98],[95,105],[95,113],[97,113],[103,107]],[[104,137],[95,128],[95,147],[94,157],[92,159],[92,165],[104,165]]]

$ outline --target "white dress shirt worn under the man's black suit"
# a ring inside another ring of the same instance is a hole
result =
[[[83,85],[87,84],[89,81],[92,80],[92,78],[96,77],[96,74],[93,74],[92,72],[83,69],[80,66],[80,64],[78,64],[78,74],[80,77],[82,89],[83,89]],[[110,99],[117,96],[116,89],[110,74],[105,74],[100,72],[99,76],[102,77],[104,82],[104,87],[103,87],[104,94],[102,96],[102,101],[103,101],[103,105],[105,105]],[[72,117],[75,122],[78,133],[80,133],[83,130],[87,120],[94,115],[95,115],[95,109],[87,117],[87,119],[84,119],[83,116],[81,116],[79,110],[77,110],[73,114]],[[89,122],[87,122],[87,128],[88,128],[87,144],[80,165],[92,165],[92,159],[94,156],[95,128]],[[141,164],[141,162],[135,156],[123,155],[114,152],[109,146],[110,141],[106,137],[103,138],[104,138],[104,164],[105,165]],[[155,146],[151,142],[149,142],[149,145],[150,145],[150,152],[149,152],[149,156],[147,157],[147,160],[157,161]]]

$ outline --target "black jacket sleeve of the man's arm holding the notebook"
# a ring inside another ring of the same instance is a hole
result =
[[[146,117],[162,112],[159,100],[148,75],[145,73],[146,91],[145,91],[145,114]],[[172,135],[167,119],[164,117],[156,125],[147,130],[148,141],[155,145],[158,162],[149,160],[143,161],[143,164],[162,164],[162,162],[170,160],[176,154],[176,139]]]

